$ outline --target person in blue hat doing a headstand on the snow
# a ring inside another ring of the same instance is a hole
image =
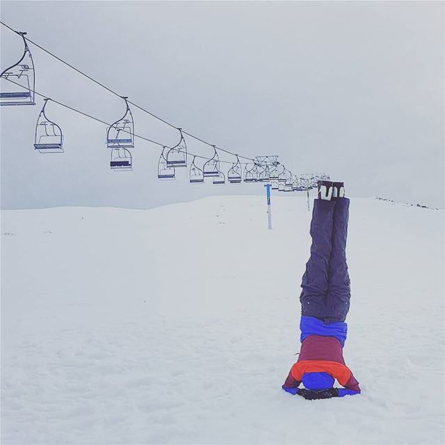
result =
[[[311,400],[360,393],[359,382],[343,359],[350,305],[348,218],[343,183],[318,181],[311,254],[301,284],[300,356],[282,385],[284,391]],[[334,388],[334,379],[344,388]],[[305,388],[299,388],[301,383]]]

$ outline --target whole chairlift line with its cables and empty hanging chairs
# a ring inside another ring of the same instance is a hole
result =
[[[1,79],[8,80],[10,83],[15,84],[15,86],[19,86],[22,90],[27,90],[25,92],[17,92],[17,91],[7,91],[5,93],[0,93],[0,105],[34,105],[34,95],[38,95],[40,97],[44,98],[45,104],[48,100],[51,100],[51,102],[54,102],[55,104],[58,104],[60,106],[63,106],[65,108],[68,108],[76,113],[79,113],[81,115],[84,115],[92,120],[95,120],[97,122],[100,122],[102,124],[105,124],[107,129],[107,146],[108,148],[111,148],[112,154],[111,154],[111,168],[113,170],[131,170],[132,166],[132,159],[131,159],[131,153],[129,152],[128,148],[134,147],[134,140],[133,138],[140,138],[143,140],[146,140],[149,143],[153,143],[155,145],[159,145],[163,148],[163,151],[161,153],[161,158],[165,160],[166,167],[172,168],[173,171],[175,170],[175,167],[186,167],[187,166],[187,156],[193,156],[193,168],[195,170],[195,176],[197,176],[196,182],[200,181],[200,173],[202,172],[203,177],[213,177],[213,184],[225,184],[225,174],[220,170],[219,164],[220,163],[228,163],[232,164],[232,169],[229,170],[229,182],[231,183],[239,183],[242,181],[241,177],[241,165],[245,165],[245,173],[247,175],[245,176],[244,181],[250,182],[250,181],[275,181],[275,186],[273,188],[282,191],[295,191],[298,190],[298,186],[302,186],[304,184],[304,188],[312,188],[312,184],[314,183],[314,180],[318,179],[318,174],[314,175],[300,175],[300,177],[297,178],[296,175],[293,175],[293,173],[290,170],[287,170],[286,167],[282,164],[277,162],[277,156],[257,156],[255,159],[248,158],[246,156],[242,156],[240,154],[236,154],[233,152],[230,152],[229,150],[223,149],[222,147],[218,147],[216,145],[213,145],[206,140],[203,140],[201,138],[198,138],[197,136],[188,133],[187,131],[182,130],[179,127],[176,127],[175,125],[171,124],[170,122],[160,118],[158,115],[155,115],[154,113],[146,110],[145,108],[139,106],[138,104],[135,104],[134,102],[131,102],[128,100],[128,97],[122,96],[118,94],[118,92],[115,92],[111,88],[108,88],[103,83],[93,79],[88,74],[84,73],[83,71],[79,70],[78,68],[74,67],[70,63],[67,63],[62,58],[56,56],[55,54],[51,53],[51,51],[48,51],[44,47],[40,46],[40,44],[33,42],[33,40],[26,38],[26,33],[15,31],[13,28],[5,24],[4,22],[0,21],[0,24],[3,26],[6,26],[6,28],[10,29],[10,31],[13,31],[13,33],[17,34],[22,38],[24,41],[24,54],[22,58],[15,63],[15,65],[12,65],[11,67],[7,68],[5,71],[1,73]],[[83,111],[80,111],[72,106],[63,104],[62,102],[58,102],[55,99],[52,99],[50,97],[47,97],[46,95],[43,95],[42,93],[35,91],[35,80],[34,80],[34,65],[33,60],[31,56],[31,51],[29,51],[29,47],[27,45],[27,42],[30,42],[31,44],[35,45],[35,47],[38,47],[42,51],[46,52],[50,56],[56,58],[56,60],[59,60],[64,65],[67,65],[68,67],[72,68],[72,70],[76,71],[77,73],[81,74],[82,76],[85,76],[90,81],[96,83],[97,85],[101,86],[108,92],[111,92],[113,95],[120,97],[121,99],[124,99],[127,111],[123,118],[120,120],[114,122],[113,124],[109,124],[108,122],[105,122],[104,120],[101,120],[99,118],[95,118],[95,116],[89,115],[88,113],[84,113]],[[22,63],[22,61],[26,58],[26,63]],[[18,83],[10,79],[11,77],[17,77],[18,81],[22,81],[22,78],[24,78],[25,82]],[[32,86],[32,88],[31,88]],[[4,96],[4,97],[3,97]],[[6,100],[4,100],[6,99]],[[26,100],[24,100],[26,99]],[[173,147],[169,147],[168,145],[164,145],[162,143],[159,143],[155,140],[146,138],[145,136],[138,135],[134,133],[134,127],[133,127],[133,117],[131,114],[131,110],[129,108],[129,104],[135,106],[136,108],[140,109],[144,113],[147,113],[148,115],[152,116],[153,118],[156,118],[157,120],[160,120],[161,122],[167,124],[168,126],[175,128],[179,131],[181,134],[181,139],[179,140],[179,143]],[[58,127],[58,125],[55,122],[51,122],[51,120],[48,120],[45,113],[45,107],[43,106],[42,111],[40,113],[40,120],[38,120],[38,124],[36,127],[36,136],[35,136],[35,149],[38,149],[41,153],[42,152],[63,152],[63,133]],[[110,137],[111,133],[111,137]],[[126,133],[126,134],[121,134]],[[209,147],[213,147],[213,157],[208,158],[206,156],[200,156],[197,154],[193,154],[188,152],[186,147],[186,140],[184,139],[184,134],[194,138],[195,140],[199,140],[204,145],[208,145]],[[42,135],[42,137],[41,137]],[[39,138],[39,140],[38,140]],[[46,138],[51,140],[49,142],[48,140],[45,140],[44,142],[40,143],[40,140],[43,140],[42,138]],[[168,149],[166,154],[164,154],[165,149]],[[224,152],[227,154],[230,154],[232,156],[236,157],[236,162],[231,161],[220,161],[218,152]],[[170,158],[169,158],[170,154]],[[200,168],[197,168],[197,165],[195,165],[194,160],[196,158],[204,159],[205,162],[202,170]],[[246,159],[250,161],[249,163],[241,163],[239,161],[239,158]],[[161,160],[160,160],[161,162]],[[248,165],[252,165],[252,169],[248,169]],[[282,172],[278,172],[277,166],[281,165]],[[259,170],[259,168],[261,170]],[[196,175],[197,174],[197,175]],[[174,175],[174,173],[173,173]],[[250,177],[249,177],[250,176]],[[321,178],[323,179],[326,175],[321,174]],[[191,179],[192,179],[192,172],[191,172]],[[191,182],[195,182],[191,181]],[[281,184],[284,182],[284,184]]]

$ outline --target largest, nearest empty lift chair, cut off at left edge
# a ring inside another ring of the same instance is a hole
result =
[[[0,105],[35,105],[33,56],[26,44],[24,37],[26,33],[19,33],[19,35],[22,35],[24,42],[23,56],[15,65],[6,68],[0,74]]]

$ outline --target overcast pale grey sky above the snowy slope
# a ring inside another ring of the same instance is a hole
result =
[[[350,196],[444,207],[444,3],[2,1],[1,20],[147,110],[244,156],[328,172]],[[1,70],[23,51],[1,26]],[[106,122],[122,99],[30,45],[36,91]],[[154,207],[261,184],[159,181],[159,147],[109,169],[106,127],[56,104],[64,154],[33,149],[35,106],[1,107],[1,206]],[[175,129],[133,110],[135,131]],[[202,156],[211,149],[188,139]],[[221,155],[232,161],[233,156]]]

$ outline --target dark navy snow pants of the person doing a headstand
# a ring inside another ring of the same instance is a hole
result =
[[[346,265],[349,200],[314,200],[311,257],[302,277],[301,314],[324,323],[345,321],[350,280]]]

